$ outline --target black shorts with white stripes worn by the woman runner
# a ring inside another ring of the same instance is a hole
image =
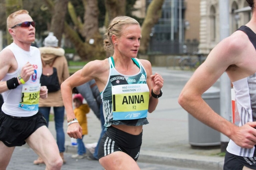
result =
[[[137,161],[141,143],[142,132],[139,135],[132,135],[110,126],[100,140],[98,158],[122,151]]]

